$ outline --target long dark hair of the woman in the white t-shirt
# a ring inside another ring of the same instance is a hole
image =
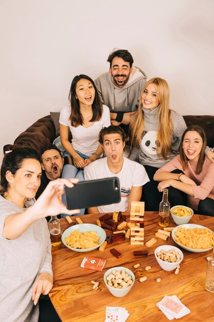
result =
[[[79,82],[79,80],[81,79],[89,80],[95,90],[95,97],[92,103],[93,116],[89,122],[99,121],[103,113],[103,104],[101,103],[100,96],[99,96],[98,90],[96,89],[94,81],[87,75],[81,74],[81,75],[75,76],[74,79],[72,80],[71,88],[68,96],[68,99],[71,104],[71,115],[69,117],[69,120],[71,121],[71,126],[74,128],[76,128],[79,125],[83,125],[83,116],[80,112],[80,102],[79,102],[79,99],[76,98],[76,83]]]

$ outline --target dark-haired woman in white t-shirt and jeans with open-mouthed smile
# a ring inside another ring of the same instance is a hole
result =
[[[72,157],[73,174],[84,180],[82,168],[95,161],[103,153],[98,137],[103,127],[110,125],[110,112],[99,98],[93,80],[86,75],[75,76],[69,92],[69,108],[60,113],[60,139],[66,150],[65,156]],[[68,139],[69,129],[72,141]],[[65,176],[66,166],[63,176]]]

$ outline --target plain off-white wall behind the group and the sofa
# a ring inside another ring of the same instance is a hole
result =
[[[72,78],[128,49],[165,78],[171,108],[213,115],[213,0],[0,0],[0,160],[5,144],[68,103]]]

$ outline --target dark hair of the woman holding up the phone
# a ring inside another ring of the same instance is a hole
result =
[[[22,167],[24,159],[36,159],[41,163],[40,154],[33,148],[18,148],[7,153],[4,157],[1,168],[1,194],[8,190],[6,173],[10,171],[15,174]]]

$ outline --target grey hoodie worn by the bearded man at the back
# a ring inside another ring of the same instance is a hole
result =
[[[137,110],[146,79],[144,71],[133,66],[129,80],[123,88],[113,84],[109,73],[101,74],[94,83],[102,103],[109,107],[110,112],[132,112]]]

